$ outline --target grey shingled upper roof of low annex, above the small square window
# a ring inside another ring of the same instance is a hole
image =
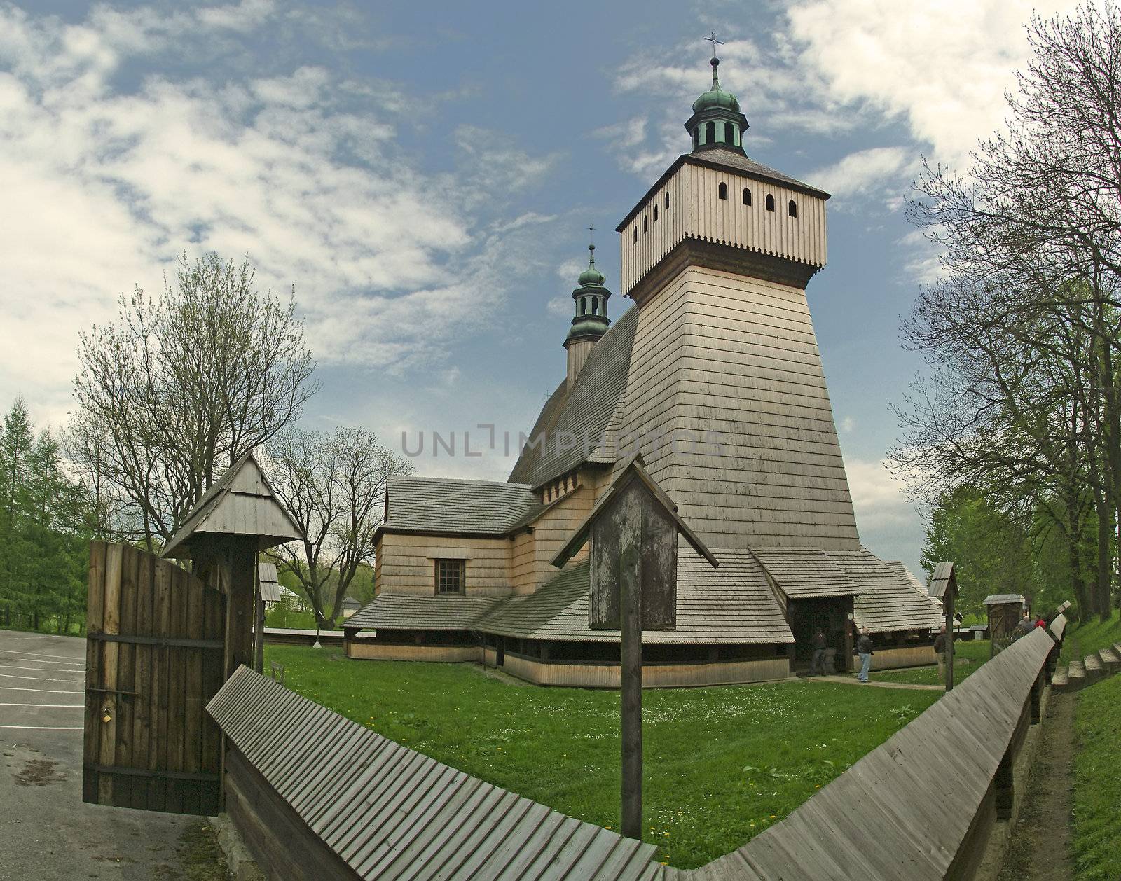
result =
[[[504,536],[543,506],[528,484],[445,477],[390,477],[380,529]]]

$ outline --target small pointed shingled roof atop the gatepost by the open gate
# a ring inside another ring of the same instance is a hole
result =
[[[226,469],[203,494],[160,556],[189,557],[192,544],[214,535],[252,536],[258,539],[258,550],[304,537],[252,451]]]

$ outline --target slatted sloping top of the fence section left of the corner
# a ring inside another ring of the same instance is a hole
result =
[[[274,844],[296,864],[308,836],[337,855],[343,865],[319,860],[317,877],[645,881],[661,868],[652,844],[442,764],[247,667],[207,712],[271,790],[257,800],[282,803],[296,819]]]

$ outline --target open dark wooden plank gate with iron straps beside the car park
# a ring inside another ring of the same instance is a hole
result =
[[[215,815],[225,597],[123,545],[90,544],[82,799]]]

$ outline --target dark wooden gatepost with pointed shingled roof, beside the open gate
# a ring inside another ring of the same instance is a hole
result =
[[[194,574],[226,596],[223,680],[242,664],[256,668],[254,642],[263,642],[257,555],[300,538],[250,451],[206,491],[167,542],[161,556],[192,559]]]

